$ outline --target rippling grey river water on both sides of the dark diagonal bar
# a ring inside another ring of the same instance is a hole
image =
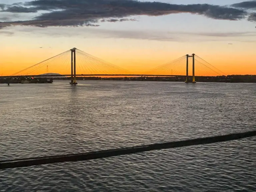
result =
[[[255,84],[0,85],[1,159],[255,129]],[[256,191],[256,139],[0,171],[0,191]]]

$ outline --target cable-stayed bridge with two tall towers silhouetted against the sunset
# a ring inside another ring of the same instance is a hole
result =
[[[49,71],[54,73],[48,73]],[[78,76],[172,76],[186,77],[186,83],[195,83],[196,76],[222,75],[224,75],[222,71],[195,54],[184,55],[148,71],[133,73],[77,48],[72,48],[10,76],[2,76],[1,78],[64,76],[71,77],[70,84],[77,84],[76,77]]]

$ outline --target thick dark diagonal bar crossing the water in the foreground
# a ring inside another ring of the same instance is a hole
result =
[[[156,144],[150,144],[150,145],[141,145],[141,146],[135,146],[135,147],[109,149],[109,150],[101,150],[101,151],[78,153],[78,154],[2,160],[0,161],[0,169],[29,167],[34,165],[45,165],[45,164],[53,164],[53,163],[61,163],[61,162],[86,161],[86,160],[114,157],[119,155],[135,154],[135,153],[141,153],[141,152],[153,151],[153,150],[170,149],[170,148],[177,148],[177,147],[186,147],[186,146],[193,146],[193,145],[202,145],[202,144],[211,144],[211,143],[217,143],[217,142],[239,140],[239,139],[255,137],[255,136],[256,136],[256,130],[242,132],[242,133],[232,133],[228,135],[189,139],[189,140],[174,141],[174,142],[168,142],[168,143],[156,143]]]

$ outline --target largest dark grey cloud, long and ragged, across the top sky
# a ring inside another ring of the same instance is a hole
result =
[[[5,12],[41,14],[33,20],[2,22],[0,28],[10,25],[36,27],[49,26],[98,26],[100,20],[109,22],[127,21],[124,17],[148,15],[160,16],[175,13],[191,13],[204,15],[208,18],[222,20],[239,20],[247,12],[232,7],[209,4],[177,5],[161,2],[141,2],[137,0],[33,0],[23,5],[8,5]],[[115,18],[119,18],[115,19]]]

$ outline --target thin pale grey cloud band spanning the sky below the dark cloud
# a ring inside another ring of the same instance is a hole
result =
[[[22,27],[17,26],[15,29],[0,30],[0,34],[5,36],[14,35],[13,32],[19,31],[20,36],[30,37],[48,36],[48,37],[71,37],[74,36],[74,30],[69,27],[48,27],[44,28]],[[193,31],[161,31],[161,30],[143,30],[143,29],[103,29],[90,27],[84,29],[83,27],[77,28],[76,37],[80,39],[86,38],[101,38],[101,39],[137,39],[137,40],[153,40],[165,42],[212,42],[212,41],[225,41],[230,42],[255,42],[256,31],[243,31],[243,32],[193,32]],[[239,37],[239,38],[237,38]]]

